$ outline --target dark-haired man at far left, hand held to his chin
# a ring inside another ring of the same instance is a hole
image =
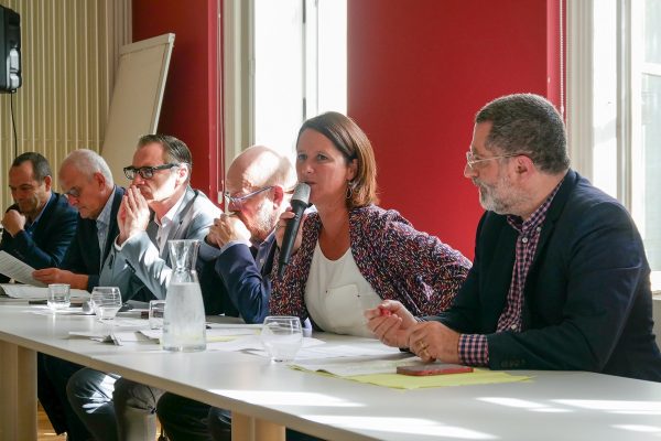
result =
[[[20,154],[9,169],[14,204],[2,217],[0,250],[36,269],[58,267],[76,233],[76,211],[52,191],[52,181],[48,161],[35,152]]]

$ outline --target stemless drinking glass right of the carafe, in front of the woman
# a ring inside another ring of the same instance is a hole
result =
[[[270,315],[264,319],[260,340],[273,362],[292,362],[303,344],[301,320]]]

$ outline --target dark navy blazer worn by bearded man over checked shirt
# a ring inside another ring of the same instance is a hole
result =
[[[494,369],[592,370],[661,381],[650,268],[625,207],[570,170],[528,273],[522,332],[496,333],[516,240],[506,216],[485,213],[473,269],[453,306],[435,319],[460,333],[486,334]]]

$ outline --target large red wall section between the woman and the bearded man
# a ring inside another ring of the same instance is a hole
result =
[[[375,147],[381,205],[466,256],[483,213],[463,176],[473,118],[506,94],[556,100],[557,1],[348,2],[348,114]]]

